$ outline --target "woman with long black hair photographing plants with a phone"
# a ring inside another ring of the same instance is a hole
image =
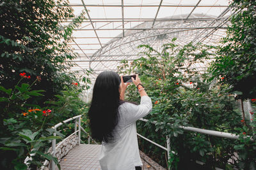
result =
[[[103,170],[141,169],[136,120],[152,110],[152,102],[138,74],[132,78],[141,96],[140,105],[124,101],[130,83],[113,72],[99,74],[88,113],[92,138],[102,141],[99,162]]]

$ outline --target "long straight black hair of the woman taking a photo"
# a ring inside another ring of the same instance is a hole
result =
[[[120,101],[120,76],[113,71],[104,71],[97,76],[92,103],[88,112],[92,138],[108,143],[113,137],[113,129],[118,123]]]

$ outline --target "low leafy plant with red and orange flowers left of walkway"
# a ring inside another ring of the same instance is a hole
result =
[[[28,99],[43,96],[44,90],[32,90],[32,86],[40,81],[40,78],[31,84],[22,83],[26,73],[20,73],[20,80],[13,89],[5,89],[0,86],[1,92],[6,97],[1,97],[1,113],[8,113],[3,119],[3,129],[1,131],[0,149],[1,169],[27,169],[31,167],[35,169],[42,165],[44,159],[53,160],[58,163],[56,158],[47,152],[49,148],[48,142],[52,139],[60,139],[60,136],[52,136],[51,118],[53,111],[49,109],[41,109],[40,106],[30,104]],[[21,83],[21,85],[20,85]],[[24,163],[26,157],[29,160]],[[30,159],[31,158],[31,159]],[[11,163],[11,164],[10,164]],[[60,165],[58,165],[60,166]]]

